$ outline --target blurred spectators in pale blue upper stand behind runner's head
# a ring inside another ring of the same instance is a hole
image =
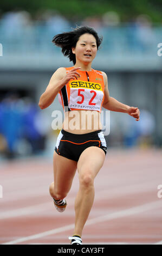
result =
[[[120,45],[124,50],[131,51],[133,48],[133,51],[149,53],[152,46],[154,47],[154,44],[157,43],[157,36],[160,38],[161,33],[159,28],[154,27],[151,18],[144,14],[123,23],[120,21],[118,13],[108,11],[102,16],[89,16],[86,19],[72,22],[56,10],[37,11],[34,19],[25,10],[13,10],[1,15],[0,40],[2,42],[3,40],[6,42],[12,40],[12,47],[14,44],[17,45],[19,51],[25,44],[30,47],[30,50],[32,50],[32,44],[35,44],[34,51],[45,44],[44,48],[49,50],[50,47],[47,47],[46,41],[49,44],[55,34],[69,31],[76,25],[86,25],[96,29],[100,35],[103,35],[103,44],[106,42],[105,47],[110,52],[120,40]],[[20,44],[18,44],[19,42]],[[26,45],[25,50],[28,50]],[[116,47],[116,51],[118,48],[119,45]]]

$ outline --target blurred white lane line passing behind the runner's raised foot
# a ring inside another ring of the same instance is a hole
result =
[[[139,193],[139,192],[147,192],[148,187],[151,189],[151,184],[135,184],[135,185],[128,185],[125,187],[117,187],[117,188],[110,188],[108,190],[102,190],[96,193],[95,196],[95,201],[100,200],[101,197],[102,199],[112,199],[116,198],[119,196],[119,191],[120,191],[120,196],[125,196],[126,194],[134,194],[134,193]],[[68,198],[68,206],[74,204],[75,197],[69,197]],[[51,207],[51,201],[48,203],[42,203],[42,204],[35,204],[33,206],[28,206],[25,208],[19,208],[15,210],[10,210],[10,211],[4,211],[0,212],[0,220],[5,220],[7,218],[15,218],[15,217],[20,217],[20,216],[25,216],[25,215],[30,215],[30,214],[36,214],[37,212],[42,212],[46,210],[47,208]]]

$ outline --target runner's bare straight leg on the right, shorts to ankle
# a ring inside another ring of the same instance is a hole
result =
[[[82,235],[90,209],[94,202],[94,178],[105,160],[105,153],[98,147],[89,147],[80,155],[77,162],[79,172],[79,192],[75,199],[74,235]]]

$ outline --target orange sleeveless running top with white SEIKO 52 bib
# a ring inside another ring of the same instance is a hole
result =
[[[73,68],[66,68],[66,72]],[[94,69],[77,72],[81,77],[70,80],[59,92],[64,112],[84,109],[101,112],[105,89],[102,72]]]

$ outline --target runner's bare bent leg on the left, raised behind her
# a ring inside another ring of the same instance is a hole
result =
[[[77,169],[77,162],[58,155],[54,151],[54,182],[50,184],[49,192],[55,200],[63,199],[69,192]]]

